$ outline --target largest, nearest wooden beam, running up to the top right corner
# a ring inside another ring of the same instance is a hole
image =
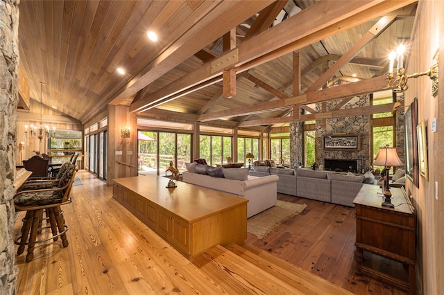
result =
[[[247,71],[254,66],[296,51],[319,39],[330,37],[413,2],[415,0],[349,1],[346,6],[343,1],[317,2],[277,26],[240,44],[236,48],[239,51],[238,61],[227,64],[226,67],[240,65],[237,73]],[[325,14],[320,15],[319,11],[325,11]],[[303,24],[302,27],[301,24]],[[297,32],[294,28],[298,28]],[[227,53],[226,56],[229,57],[230,53]],[[169,101],[167,100],[169,96],[221,75],[221,73],[222,70],[215,72],[212,71],[210,64],[204,64],[200,69],[185,75],[175,83],[155,91],[148,98],[144,98],[144,101],[133,103],[130,106],[130,111],[144,111],[149,105],[160,105]]]

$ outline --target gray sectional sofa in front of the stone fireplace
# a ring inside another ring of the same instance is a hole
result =
[[[363,186],[377,184],[373,175],[343,175],[309,169],[282,169],[254,166],[248,175],[278,175],[278,193],[354,207],[353,199]]]

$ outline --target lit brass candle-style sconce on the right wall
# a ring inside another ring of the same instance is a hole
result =
[[[406,75],[405,73],[404,51],[405,46],[403,44],[400,44],[400,46],[396,48],[396,51],[392,51],[390,55],[388,55],[389,64],[387,73],[387,86],[390,87],[393,92],[404,92],[409,88],[409,86],[407,85],[407,81],[409,80],[409,78],[418,78],[422,75],[428,75],[429,78],[432,80],[432,95],[436,96],[436,93],[438,92],[438,51],[436,51],[434,59],[432,60],[432,66],[430,66],[429,71],[413,73],[411,75]],[[396,75],[393,74],[395,59],[398,63],[396,66]]]

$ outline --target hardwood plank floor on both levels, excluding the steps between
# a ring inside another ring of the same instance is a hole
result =
[[[73,203],[62,208],[70,227],[69,246],[63,248],[61,242],[37,244],[35,258],[28,263],[24,262],[25,254],[18,256],[18,294],[261,293],[203,273],[199,263],[178,254],[114,201],[112,187],[89,172],[79,171],[78,177],[83,185],[73,187]],[[247,249],[264,249],[355,294],[406,294],[377,280],[355,276],[353,208],[280,194],[278,198],[308,207],[264,240],[248,234]],[[22,217],[23,213],[15,222],[15,237]],[[377,263],[393,268],[386,261]]]

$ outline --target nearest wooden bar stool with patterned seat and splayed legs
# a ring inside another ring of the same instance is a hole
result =
[[[16,240],[19,245],[17,255],[24,252],[26,245],[28,253],[26,262],[34,258],[34,247],[36,243],[62,239],[63,247],[68,246],[66,232],[69,227],[65,224],[63,211],[60,206],[71,203],[71,188],[76,177],[76,170],[73,165],[65,171],[65,174],[58,180],[58,186],[52,188],[43,188],[37,190],[21,190],[14,196],[14,205],[16,211],[26,211],[22,226],[22,235]],[[37,233],[40,233],[42,226],[43,211],[46,210],[46,216],[49,220],[52,236],[37,240]]]

